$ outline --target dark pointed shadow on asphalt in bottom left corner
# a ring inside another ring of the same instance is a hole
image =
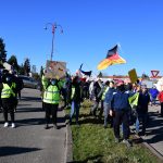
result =
[[[22,154],[41,150],[39,148],[23,148],[23,147],[0,147],[0,156]]]

